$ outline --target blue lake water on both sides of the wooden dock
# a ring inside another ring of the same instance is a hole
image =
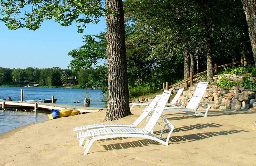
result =
[[[24,89],[23,100],[51,99],[54,96],[58,104],[83,105],[86,94],[90,98],[90,107],[105,107],[101,101],[100,89],[61,89],[61,88],[28,88],[0,87],[0,99],[10,96],[20,100],[20,90]],[[81,103],[74,103],[79,100]],[[21,111],[0,110],[0,134],[24,125],[48,120],[47,114]]]

